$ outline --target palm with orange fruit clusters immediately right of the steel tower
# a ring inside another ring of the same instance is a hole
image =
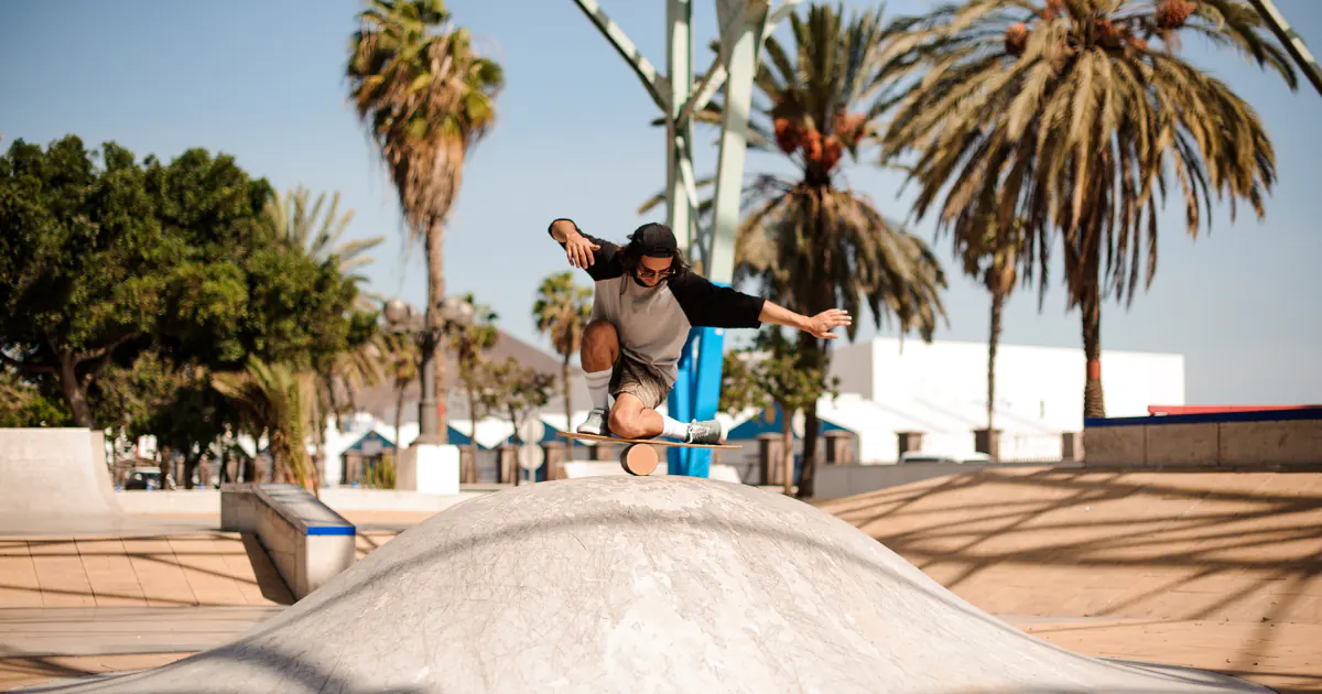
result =
[[[748,147],[788,157],[796,173],[761,173],[746,188],[752,210],[735,242],[735,283],[756,279],[763,292],[804,315],[866,304],[874,325],[894,320],[902,333],[931,340],[944,317],[945,275],[928,246],[851,189],[841,167],[858,160],[878,127],[873,106],[883,49],[880,12],[845,21],[843,12],[812,7],[791,16],[795,53],[768,37],[755,78]],[[719,112],[713,104],[703,120]],[[645,205],[646,209],[649,205]],[[699,208],[705,219],[710,202]],[[853,340],[859,323],[847,329]],[[824,341],[798,336],[805,370],[829,373]],[[817,410],[806,408],[800,496],[812,494]]]

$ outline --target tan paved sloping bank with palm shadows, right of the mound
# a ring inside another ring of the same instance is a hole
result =
[[[1005,469],[817,505],[1064,648],[1322,691],[1322,473]]]

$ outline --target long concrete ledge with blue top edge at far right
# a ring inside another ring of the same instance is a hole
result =
[[[1322,464],[1322,408],[1084,420],[1084,465],[1244,468]]]

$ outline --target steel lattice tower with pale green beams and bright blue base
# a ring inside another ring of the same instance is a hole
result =
[[[718,286],[734,279],[735,226],[743,186],[752,81],[763,38],[771,34],[801,0],[715,0],[720,50],[706,74],[694,83],[691,0],[666,3],[666,74],[661,75],[602,11],[596,0],[574,0],[615,50],[629,63],[666,122],[666,223],[690,259]],[[709,230],[697,225],[698,193],[693,176],[693,114],[701,111],[724,85],[720,155],[717,164],[717,202]],[[720,399],[724,334],[717,328],[690,332],[670,393],[670,416],[687,422],[711,419]],[[670,475],[707,477],[711,451],[670,448]]]

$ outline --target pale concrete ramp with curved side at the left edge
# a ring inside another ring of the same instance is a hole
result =
[[[0,428],[0,514],[115,517],[104,435],[85,428]]]

